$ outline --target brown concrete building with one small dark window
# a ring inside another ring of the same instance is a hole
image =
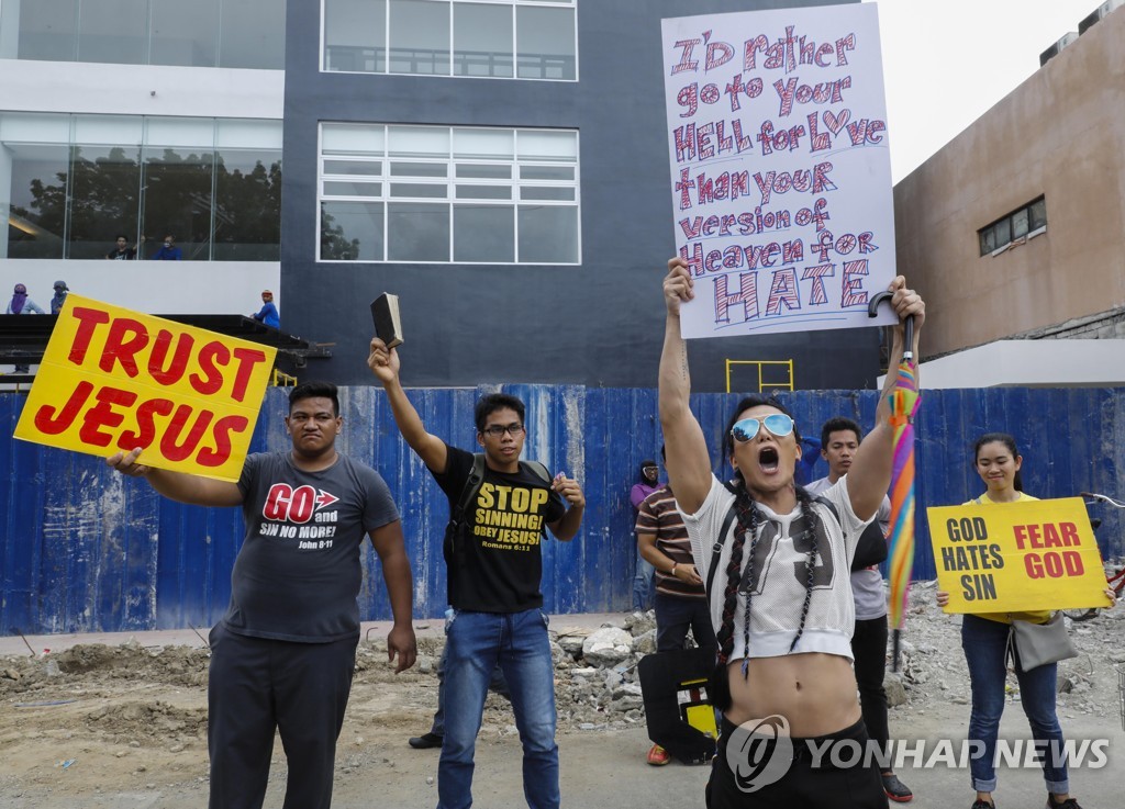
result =
[[[928,304],[924,358],[1125,337],[1123,42],[1117,9],[896,187],[899,263]],[[973,356],[958,387],[1022,383],[990,373],[1001,354]],[[1125,384],[1078,343],[1051,357],[1059,384]]]

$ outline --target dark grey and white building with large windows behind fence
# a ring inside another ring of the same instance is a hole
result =
[[[386,290],[410,385],[650,387],[674,251],[660,20],[814,4],[0,0],[0,293],[22,282],[43,304],[63,279],[151,313],[246,315],[269,288],[285,331],[330,346],[302,376],[367,384],[368,302]],[[222,199],[223,166],[245,180],[255,161],[280,193],[272,245],[235,234]],[[154,213],[151,179],[173,163],[198,192]],[[125,203],[90,212],[83,172]],[[36,181],[65,190],[64,211],[44,213]],[[173,227],[190,263],[101,260],[117,233],[147,235],[145,254]],[[795,388],[870,388],[878,340],[696,340],[693,381],[792,361]]]

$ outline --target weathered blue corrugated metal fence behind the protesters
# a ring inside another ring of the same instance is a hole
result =
[[[474,447],[472,404],[480,390],[416,390],[412,401],[430,431]],[[493,390],[493,389],[487,389]],[[543,545],[543,596],[552,612],[624,610],[633,569],[629,488],[642,458],[658,457],[659,425],[651,389],[512,385],[528,404],[528,448],[554,471],[583,483],[586,516],[572,543]],[[870,425],[874,391],[800,391],[783,399],[798,425],[816,434],[831,416]],[[735,394],[698,394],[693,409],[718,463]],[[209,626],[230,598],[230,574],[242,543],[238,509],[181,506],[143,481],[122,478],[97,457],[14,440],[25,398],[0,394],[0,634],[122,631]],[[1038,497],[1080,491],[1123,494],[1122,390],[989,389],[927,391],[917,422],[918,554],[916,578],[934,576],[925,507],[958,503],[981,491],[969,444],[1006,430],[1022,442],[1024,480]],[[340,448],[387,479],[403,515],[414,569],[415,613],[446,608],[441,537],[448,506],[421,462],[405,447],[381,390],[341,390]],[[252,449],[289,446],[286,392],[262,403]],[[825,473],[824,463],[820,473]],[[729,474],[723,463],[717,466]],[[1106,509],[1105,511],[1110,511]],[[1122,521],[1099,512],[1102,553],[1120,555]],[[389,617],[374,552],[364,546],[364,619]]]

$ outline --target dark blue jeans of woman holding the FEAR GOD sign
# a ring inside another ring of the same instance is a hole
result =
[[[970,762],[972,787],[978,792],[996,790],[996,745],[1004,713],[1004,685],[1007,676],[1007,624],[966,615],[961,625],[961,646],[969,663],[973,710],[969,717],[969,738],[983,743],[983,754]],[[1047,791],[1063,794],[1070,791],[1066,757],[1063,755],[1062,728],[1055,716],[1055,663],[1023,671],[1016,666],[1019,701],[1032,726],[1032,738],[1041,749],[1043,779]],[[1023,756],[1020,756],[1023,758]]]

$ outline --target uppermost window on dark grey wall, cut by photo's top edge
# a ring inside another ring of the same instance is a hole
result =
[[[577,0],[322,0],[323,70],[577,81]]]

